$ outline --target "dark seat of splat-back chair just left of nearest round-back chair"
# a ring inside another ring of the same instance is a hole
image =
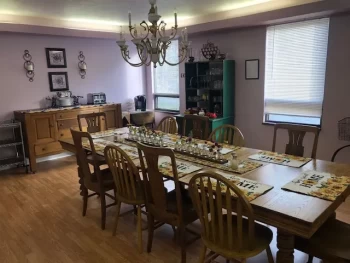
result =
[[[196,210],[193,207],[189,192],[187,190],[181,190],[181,198],[184,223],[189,224],[196,221],[198,219],[198,216]],[[175,190],[167,193],[167,211],[174,214],[178,213]]]

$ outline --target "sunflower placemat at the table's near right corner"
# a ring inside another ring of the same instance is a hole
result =
[[[306,171],[282,187],[284,190],[334,201],[350,185],[350,177]]]

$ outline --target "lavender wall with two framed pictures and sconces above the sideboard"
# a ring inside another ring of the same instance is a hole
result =
[[[50,92],[48,72],[67,71],[74,95],[105,92],[109,102],[124,102],[145,92],[144,68],[124,62],[114,40],[54,37],[0,33],[0,120],[13,117],[14,110],[43,107]],[[49,69],[45,48],[65,48],[66,69]],[[35,63],[34,82],[29,82],[23,68],[24,50],[28,49]],[[85,79],[78,74],[78,54],[83,51],[88,66]]]

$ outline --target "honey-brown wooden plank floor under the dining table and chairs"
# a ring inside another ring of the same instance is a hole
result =
[[[156,230],[152,253],[139,254],[132,214],[120,219],[115,237],[111,234],[115,207],[108,210],[104,231],[100,229],[97,197],[89,200],[87,215],[82,217],[75,158],[41,163],[38,170],[28,175],[23,169],[0,173],[1,263],[180,262],[180,251],[169,226]],[[349,200],[338,210],[337,217],[350,223]],[[198,223],[192,228],[200,229]],[[143,239],[146,247],[147,231]],[[200,247],[200,240],[188,247],[187,262],[197,262]],[[275,255],[275,241],[271,248]],[[295,253],[295,262],[304,263],[306,259],[305,254]],[[218,258],[216,262],[224,260]],[[264,262],[265,253],[248,260]]]

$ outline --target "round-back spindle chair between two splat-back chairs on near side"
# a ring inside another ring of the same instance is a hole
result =
[[[141,206],[145,204],[144,188],[140,179],[139,170],[130,157],[117,146],[105,148],[105,158],[112,172],[116,186],[117,214],[113,235],[117,232],[121,203],[137,206],[137,233],[138,246],[142,252],[142,218]]]

